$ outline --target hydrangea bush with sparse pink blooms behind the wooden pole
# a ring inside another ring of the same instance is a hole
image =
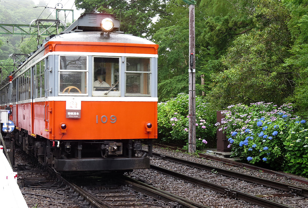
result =
[[[188,94],[160,102],[157,106],[158,138],[165,142],[186,144],[188,140]],[[196,96],[197,149],[216,147],[216,110]],[[188,148],[188,145],[185,146]]]

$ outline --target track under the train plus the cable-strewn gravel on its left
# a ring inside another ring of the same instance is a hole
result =
[[[17,151],[18,183],[29,207],[209,208],[119,174],[82,173],[61,176]]]

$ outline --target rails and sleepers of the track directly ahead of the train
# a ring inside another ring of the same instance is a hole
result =
[[[76,183],[66,179],[63,179],[63,181],[73,187],[75,192],[79,193],[82,198],[85,198],[98,208],[149,206],[153,208],[209,208],[124,175],[118,175],[116,179],[113,176],[108,179],[107,183],[104,182],[100,185],[80,186],[80,184],[76,185]],[[84,184],[85,182],[77,183]]]

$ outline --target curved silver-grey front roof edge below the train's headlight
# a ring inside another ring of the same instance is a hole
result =
[[[132,44],[155,44],[150,40],[123,33],[102,32],[72,32],[56,35],[48,41],[72,41],[72,42],[107,42],[107,43],[132,43]]]

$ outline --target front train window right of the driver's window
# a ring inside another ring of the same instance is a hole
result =
[[[150,79],[149,58],[126,58],[125,95],[150,95]]]

